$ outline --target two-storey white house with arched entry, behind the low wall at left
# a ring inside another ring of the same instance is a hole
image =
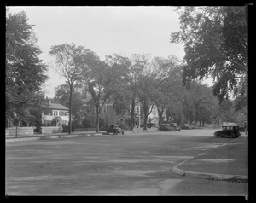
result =
[[[42,113],[42,123],[44,125],[68,125],[68,108],[59,103],[51,103],[47,110]]]

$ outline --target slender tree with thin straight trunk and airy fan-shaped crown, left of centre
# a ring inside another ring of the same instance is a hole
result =
[[[87,77],[90,70],[91,61],[96,55],[90,49],[85,49],[84,46],[76,46],[76,44],[61,44],[50,48],[49,55],[55,56],[54,70],[62,77],[67,79],[69,86],[69,128],[68,133],[71,133],[72,122],[72,96],[73,85]]]

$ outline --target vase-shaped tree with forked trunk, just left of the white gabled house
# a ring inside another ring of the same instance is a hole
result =
[[[147,129],[147,120],[155,104],[158,106],[159,115],[163,113],[168,104],[169,96],[166,94],[166,84],[170,79],[171,69],[175,64],[175,57],[168,59],[155,57],[150,60],[149,57],[141,57],[137,61],[142,67],[142,73],[139,75],[138,83],[138,101],[143,109],[143,129]]]

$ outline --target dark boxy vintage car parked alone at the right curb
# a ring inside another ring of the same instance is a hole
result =
[[[237,138],[241,136],[238,125],[223,125],[221,131],[215,131],[214,136],[216,137],[225,137]]]

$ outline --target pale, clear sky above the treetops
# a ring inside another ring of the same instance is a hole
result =
[[[179,30],[178,14],[171,6],[80,6],[80,7],[9,7],[15,14],[25,11],[28,23],[34,25],[42,51],[39,58],[48,67],[49,80],[44,84],[46,96],[54,97],[54,88],[65,84],[65,78],[51,66],[53,45],[83,45],[100,56],[149,53],[152,57],[176,55],[183,59],[183,44],[171,44],[171,32]],[[208,80],[207,80],[208,81]],[[211,84],[211,82],[209,83]]]

